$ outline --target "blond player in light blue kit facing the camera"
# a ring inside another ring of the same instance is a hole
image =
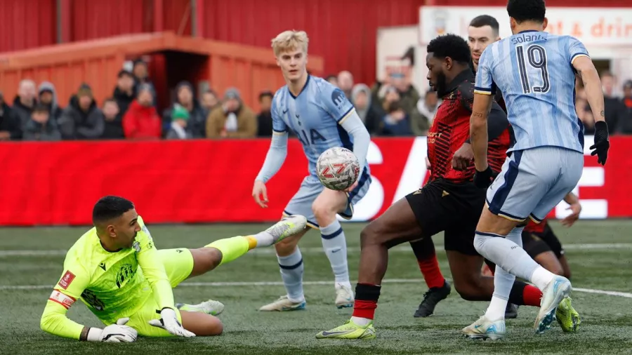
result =
[[[335,276],[336,307],[353,307],[345,234],[336,215],[350,219],[353,205],[367,193],[371,183],[367,150],[369,132],[345,94],[324,79],[308,74],[308,36],[303,31],[282,32],[272,39],[277,65],[287,85],[272,100],[272,143],[252,196],[267,207],[265,183],[281,168],[287,154],[288,132],[296,133],[309,161],[308,175],[287,204],[283,215],[304,215],[308,226],[320,229],[322,246]],[[346,192],[325,189],[316,175],[318,156],[331,147],[345,147],[360,161],[362,173]],[[261,307],[261,311],[292,311],[305,308],[303,257],[297,243],[305,232],[277,243],[277,259],[287,295]]]

